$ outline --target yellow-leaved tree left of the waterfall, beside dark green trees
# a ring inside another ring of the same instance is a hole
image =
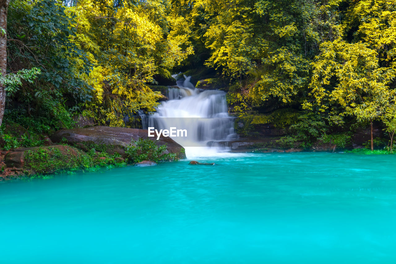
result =
[[[168,37],[167,2],[81,0],[67,8],[70,41],[87,55],[74,55],[75,73],[94,88],[85,103],[86,115],[110,126],[125,126],[126,117],[139,109],[155,111],[160,98],[147,84],[154,75],[170,75],[192,49],[183,50],[178,39]],[[80,73],[84,63],[89,74]]]

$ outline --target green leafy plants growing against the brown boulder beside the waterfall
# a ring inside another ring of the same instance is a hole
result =
[[[139,138],[137,141],[131,141],[125,153],[134,162],[154,161],[158,163],[158,161],[178,159],[176,153],[164,154],[164,151],[166,151],[166,144],[157,146],[150,139]]]

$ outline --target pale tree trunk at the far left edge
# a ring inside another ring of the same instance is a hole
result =
[[[0,0],[0,72],[3,77],[7,73],[7,8],[10,0]],[[4,107],[6,106],[6,91],[0,82],[0,126],[3,122]]]

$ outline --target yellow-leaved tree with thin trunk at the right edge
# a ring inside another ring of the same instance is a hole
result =
[[[396,4],[386,0],[358,1],[346,13],[337,37],[320,46],[312,63],[313,76],[306,109],[326,112],[342,124],[346,115],[369,121],[373,150],[373,120],[393,113],[396,103]],[[356,32],[349,32],[357,28]],[[348,33],[348,34],[347,34]],[[352,42],[346,36],[354,35]]]

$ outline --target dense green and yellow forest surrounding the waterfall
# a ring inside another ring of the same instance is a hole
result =
[[[0,122],[9,148],[39,145],[78,115],[133,126],[137,111],[155,111],[156,86],[172,85],[179,72],[225,90],[236,117],[287,113],[294,130],[286,143],[372,130],[374,122],[393,145],[393,0],[0,4]],[[11,124],[30,138],[12,138]]]

